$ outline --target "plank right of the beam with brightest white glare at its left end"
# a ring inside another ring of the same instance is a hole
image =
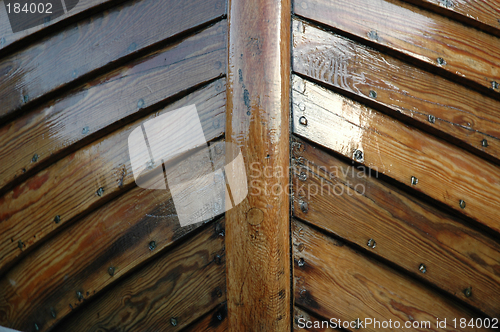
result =
[[[294,79],[305,87],[303,93],[293,91],[295,134],[500,231],[500,167],[314,83]],[[412,177],[418,179],[416,185]]]

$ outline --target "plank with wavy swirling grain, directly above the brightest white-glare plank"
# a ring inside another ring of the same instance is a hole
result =
[[[300,20],[293,26],[295,72],[500,161],[499,101]]]

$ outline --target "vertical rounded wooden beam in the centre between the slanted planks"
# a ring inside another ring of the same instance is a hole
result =
[[[229,1],[226,141],[249,195],[226,214],[230,331],[290,331],[290,0]]]

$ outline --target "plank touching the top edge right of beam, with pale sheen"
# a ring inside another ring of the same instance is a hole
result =
[[[495,36],[397,0],[295,0],[294,10],[500,96],[500,39]]]

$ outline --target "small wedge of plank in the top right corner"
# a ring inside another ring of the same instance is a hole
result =
[[[404,0],[500,37],[498,1]]]

